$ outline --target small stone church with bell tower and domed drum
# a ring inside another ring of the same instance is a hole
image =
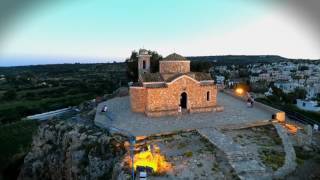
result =
[[[130,86],[133,112],[160,117],[215,109],[217,87],[210,74],[190,72],[190,61],[176,53],[159,62],[159,72],[150,73],[150,57],[139,51],[139,82]]]

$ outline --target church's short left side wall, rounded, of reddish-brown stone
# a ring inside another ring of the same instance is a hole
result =
[[[133,112],[145,112],[146,93],[144,87],[130,87],[130,103]]]

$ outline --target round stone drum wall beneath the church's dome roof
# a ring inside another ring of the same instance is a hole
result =
[[[161,74],[190,72],[190,61],[160,61],[159,63]]]

